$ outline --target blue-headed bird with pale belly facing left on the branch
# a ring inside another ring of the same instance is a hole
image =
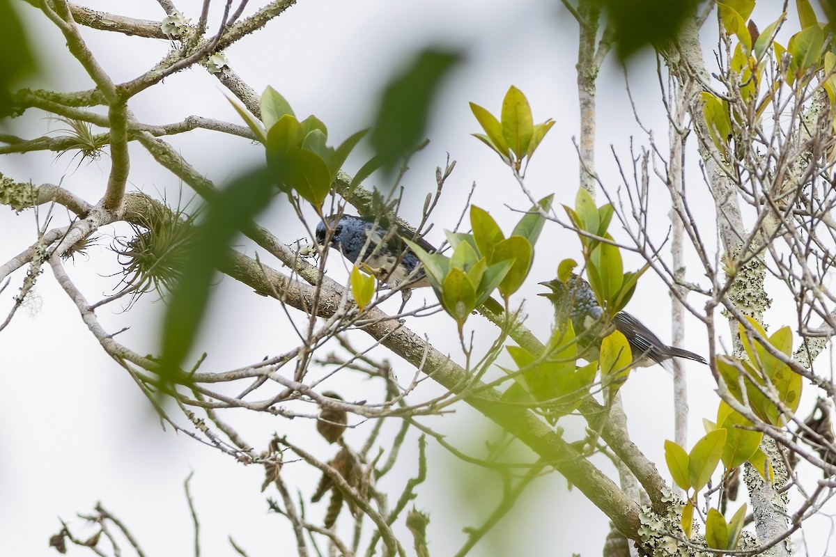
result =
[[[327,238],[329,229],[333,232]],[[430,286],[421,260],[406,246],[403,238],[409,238],[428,253],[434,253],[436,248],[423,238],[413,240],[414,234],[405,228],[395,225],[395,229],[391,230],[385,219],[380,218],[375,223],[375,220],[355,215],[329,215],[317,224],[315,236],[320,246],[324,246],[327,239],[329,247],[341,252],[352,263],[368,266],[390,288],[408,281],[408,287],[401,291],[401,311],[409,300],[412,288]],[[361,252],[362,261],[357,261]]]

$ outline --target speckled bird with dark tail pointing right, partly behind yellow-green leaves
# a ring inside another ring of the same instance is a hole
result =
[[[590,353],[597,357],[596,352],[598,352],[601,337],[605,336],[601,333],[605,331],[600,330],[600,327],[596,325],[604,316],[604,308],[599,305],[598,298],[595,297],[589,282],[573,273],[565,283],[554,279],[540,284],[551,290],[541,293],[540,296],[547,297],[554,304],[554,315],[558,326],[567,320],[571,321],[579,346],[589,348]],[[630,352],[632,352],[633,367],[649,367],[655,363],[664,365],[663,362],[672,357],[682,357],[707,364],[706,359],[699,354],[666,345],[645,327],[644,323],[626,311],[619,311],[615,314],[611,325],[627,338]]]

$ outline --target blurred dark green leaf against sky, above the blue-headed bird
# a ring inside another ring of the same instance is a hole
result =
[[[424,139],[443,78],[461,60],[453,50],[427,48],[390,79],[381,94],[371,143],[387,173]]]

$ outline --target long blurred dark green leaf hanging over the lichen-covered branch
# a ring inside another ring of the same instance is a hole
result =
[[[206,219],[198,225],[195,243],[183,275],[171,291],[162,322],[160,377],[163,385],[185,381],[181,364],[191,351],[206,314],[218,268],[228,265],[229,246],[252,217],[275,195],[272,175],[264,168],[251,170],[207,200]]]

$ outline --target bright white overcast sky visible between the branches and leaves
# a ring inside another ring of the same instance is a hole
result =
[[[196,19],[199,2],[181,0],[177,4]],[[510,171],[495,154],[469,136],[477,131],[477,123],[467,102],[481,104],[496,114],[511,84],[528,96],[535,122],[557,120],[529,167],[528,188],[537,197],[555,192],[556,204],[573,204],[578,188],[578,163],[572,142],[578,129],[574,69],[577,26],[568,13],[553,4],[556,3],[525,0],[514,3],[511,9],[507,3],[489,0],[479,3],[476,9],[473,3],[462,0],[303,0],[226,54],[232,68],[254,89],[261,91],[272,85],[288,99],[300,118],[316,114],[322,119],[329,127],[330,142],[339,143],[370,124],[382,80],[416,48],[434,41],[466,48],[466,63],[446,83],[437,105],[428,132],[431,144],[415,156],[412,170],[405,178],[407,201],[402,212],[405,218],[416,220],[424,196],[435,190],[435,167],[444,164],[447,152],[458,161],[434,214],[436,226],[428,237],[437,244],[443,239],[442,230],[456,224],[474,180],[477,190],[472,202],[491,211],[504,230],[510,230],[518,218],[506,205],[518,210],[528,208],[528,200]],[[84,5],[155,20],[165,15],[151,0]],[[34,10],[25,7],[23,13],[32,15]],[[50,58],[49,77],[42,86],[66,91],[88,89],[89,79],[79,64],[69,58],[58,31],[43,24],[30,29],[41,44],[41,51]],[[166,41],[83,31],[99,63],[117,82],[145,71],[170,48]],[[666,120],[659,102],[654,61],[640,59],[631,72],[631,89],[642,121],[656,130],[657,139],[664,144]],[[195,68],[166,78],[163,86],[138,95],[130,108],[140,120],[150,124],[176,122],[190,114],[240,123],[224,94],[215,78]],[[23,119],[12,122],[13,132],[25,137],[45,133],[49,124],[41,117],[42,113],[30,110]],[[635,134],[637,144],[644,144],[645,138],[635,124],[624,95],[624,79],[612,56],[599,79],[598,122],[599,172],[613,190],[620,179],[609,145],[615,145],[622,160],[629,160],[630,135]],[[51,125],[52,129],[60,127]],[[191,165],[219,185],[263,160],[261,148],[240,138],[195,131],[166,139],[181,150]],[[176,178],[150,160],[138,145],[132,145],[130,152],[133,188],[155,196],[165,191],[169,200],[176,200],[180,187]],[[357,170],[364,156],[355,154],[346,170]],[[69,155],[59,160],[54,160],[52,154],[26,155],[3,157],[0,170],[15,180],[31,179],[36,184],[63,180],[63,185],[74,193],[90,201],[98,200],[110,169],[108,157],[105,155],[93,164],[85,162],[78,170],[76,164]],[[367,186],[371,183],[367,182]],[[692,175],[689,186],[689,193],[694,195],[692,202],[703,207],[711,218],[710,198],[698,174]],[[668,204],[660,184],[652,185],[651,191],[655,195],[651,204],[656,215],[654,237],[660,241],[668,226]],[[183,196],[191,197],[187,186]],[[603,199],[599,197],[599,203]],[[259,220],[290,243],[303,236],[303,228],[279,205],[277,198]],[[56,220],[65,219],[64,213],[57,210]],[[31,244],[34,229],[32,211],[19,216],[9,210],[0,212],[0,261],[7,261]],[[617,230],[616,223],[613,229]],[[125,227],[110,230],[113,234],[128,233]],[[119,281],[118,277],[108,276],[119,271],[114,255],[107,249],[111,241],[111,237],[103,236],[99,246],[89,251],[89,259],[79,256],[75,264],[68,264],[71,276],[89,301],[109,295]],[[269,264],[275,263],[262,250],[254,250],[243,241],[241,245],[248,255],[257,253]],[[535,296],[542,291],[537,282],[552,278],[558,262],[566,257],[579,259],[579,242],[573,233],[549,223],[537,246],[535,268],[516,296],[518,301],[528,300],[528,325],[540,337],[548,333],[552,310],[545,300]],[[629,261],[634,267],[640,265],[635,259]],[[691,268],[695,270],[691,280],[699,280],[696,267]],[[338,280],[344,276],[339,257],[329,259],[329,274]],[[0,298],[0,308],[11,303],[22,278],[22,271],[13,275],[12,284]],[[670,339],[670,298],[666,292],[660,296],[660,285],[654,276],[646,276],[628,309],[660,337]],[[253,296],[246,286],[228,278],[220,281],[217,291],[209,316],[212,325],[198,343],[201,350],[209,350],[202,369],[217,372],[240,367],[289,347],[285,340],[288,327],[278,302]],[[411,303],[423,296],[431,296],[431,291],[415,291]],[[107,306],[99,311],[99,319],[114,332],[130,326],[120,341],[137,352],[155,351],[158,320],[164,306],[160,302],[150,303],[153,298],[153,294],[146,295],[128,312],[121,312],[118,305]],[[391,311],[396,308],[397,303]],[[772,316],[773,322],[780,322],[774,311],[768,316]],[[450,352],[453,357],[461,354],[455,325],[445,316],[408,319],[407,326],[430,335],[441,352]],[[476,331],[477,338],[495,331],[479,316],[473,316],[468,327]],[[696,320],[689,322],[689,333],[686,347],[706,354],[705,333]],[[356,338],[358,346],[369,343],[362,336]],[[290,553],[294,539],[286,528],[287,522],[268,514],[265,503],[265,495],[278,499],[278,493],[272,487],[266,494],[258,491],[263,469],[244,467],[186,436],[162,432],[139,389],[120,367],[104,357],[51,271],[43,273],[33,301],[0,334],[0,354],[0,388],[6,395],[0,405],[0,446],[5,448],[0,453],[0,553],[52,554],[54,550],[48,549],[47,543],[49,536],[60,528],[56,517],[68,520],[81,538],[93,534],[94,529],[85,527],[75,513],[89,512],[96,501],[101,501],[130,527],[146,554],[189,554],[193,543],[191,519],[182,482],[191,471],[195,472],[191,489],[201,519],[203,555],[232,554],[227,535],[232,535],[252,557]],[[386,354],[378,352],[378,356]],[[390,360],[400,382],[408,382],[413,369],[397,357]],[[713,382],[706,367],[694,362],[687,362],[686,367],[692,372],[689,388],[693,443],[701,437],[701,419],[714,417],[716,396],[711,392]],[[327,387],[334,387],[345,398],[377,396],[376,390],[371,394],[364,391],[367,382],[357,379],[356,375],[338,377]],[[438,389],[431,382],[424,382],[418,396],[432,397]],[[661,367],[633,373],[622,389],[635,442],[658,463],[665,477],[669,474],[664,464],[663,442],[673,437],[671,392],[672,378]],[[428,423],[450,433],[451,440],[478,455],[487,420],[464,405],[457,408],[456,415],[434,418]],[[305,410],[314,413],[314,408]],[[266,448],[273,432],[278,431],[295,435],[297,441],[304,441],[303,435],[307,436],[322,458],[334,452],[334,448],[319,441],[312,420],[288,423],[281,418],[253,418],[246,414],[232,411],[225,415],[256,448]],[[370,425],[349,432],[349,442],[355,439],[360,443]],[[415,474],[415,444],[412,435],[404,445],[400,472],[390,474],[393,478],[385,484],[393,499],[400,494],[405,479]],[[453,554],[465,540],[461,529],[481,524],[492,507],[480,495],[484,478],[479,473],[458,463],[433,441],[429,445],[429,479],[418,489],[415,506],[431,514],[431,554]],[[606,466],[603,459],[596,462]],[[294,469],[293,464],[288,464],[283,473],[293,478],[290,474],[299,468],[306,467],[298,464]],[[310,479],[304,486],[306,497],[315,481]],[[607,520],[577,490],[567,492],[565,485],[556,473],[538,480],[515,513],[506,519],[509,529],[501,530],[503,535],[498,538],[483,540],[472,554],[599,554]],[[465,504],[467,499],[474,504]],[[319,522],[326,506],[326,502],[308,505],[312,521]],[[341,523],[346,516],[344,511]],[[399,533],[411,549],[405,529]],[[287,549],[283,549],[285,544]],[[823,553],[820,543],[810,549],[811,554]],[[70,554],[83,551],[71,549]]]

